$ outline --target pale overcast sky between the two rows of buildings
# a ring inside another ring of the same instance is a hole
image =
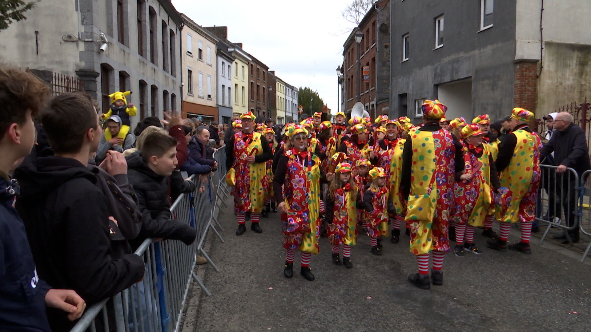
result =
[[[173,0],[204,27],[227,26],[228,39],[296,87],[317,90],[332,113],[337,108],[336,67],[343,61],[345,32],[340,18],[351,0]],[[344,33],[343,33],[344,32]]]

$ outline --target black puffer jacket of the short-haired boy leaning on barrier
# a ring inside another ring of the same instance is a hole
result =
[[[142,227],[137,239],[131,242],[132,248],[137,248],[148,237],[180,240],[186,245],[193,243],[197,237],[196,230],[189,224],[172,220],[168,177],[152,171],[142,160],[140,152],[134,152],[125,159],[127,177],[138,196],[138,208],[142,213]]]

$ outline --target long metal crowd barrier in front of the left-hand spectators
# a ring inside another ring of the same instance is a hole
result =
[[[219,167],[207,176],[191,175],[196,191],[181,194],[170,207],[173,218],[186,222],[197,230],[197,239],[191,245],[176,240],[153,242],[146,239],[135,251],[145,262],[142,281],[112,298],[87,308],[71,332],[168,332],[178,331],[186,308],[191,279],[203,292],[212,295],[194,272],[197,255],[203,255],[219,271],[203,249],[209,230],[224,242],[218,232],[223,230],[217,222],[216,209],[228,197],[223,175],[226,170],[225,148],[217,149],[213,157]]]

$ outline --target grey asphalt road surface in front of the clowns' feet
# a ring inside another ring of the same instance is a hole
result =
[[[294,278],[283,276],[277,213],[261,220],[262,234],[247,222],[246,233],[236,236],[231,206],[220,223],[226,243],[214,237],[209,250],[220,272],[206,268],[203,281],[213,296],[200,296],[191,317],[195,331],[591,330],[591,266],[537,245],[532,255],[500,253],[477,235],[484,255],[448,253],[443,286],[425,291],[407,281],[417,265],[404,234],[397,245],[385,240],[382,256],[359,236],[352,269],[333,265],[321,238],[310,263],[316,280],[309,282],[299,275],[299,254]]]

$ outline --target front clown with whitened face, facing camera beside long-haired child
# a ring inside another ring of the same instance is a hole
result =
[[[290,141],[284,145],[285,152],[277,163],[273,177],[275,200],[280,202],[278,209],[281,212],[282,242],[286,255],[284,276],[293,277],[293,262],[296,249],[299,249],[300,274],[313,281],[314,275],[309,264],[311,254],[317,254],[319,250],[320,180],[324,178],[324,172],[320,167],[320,158],[307,149],[307,129],[295,125],[290,131]]]

